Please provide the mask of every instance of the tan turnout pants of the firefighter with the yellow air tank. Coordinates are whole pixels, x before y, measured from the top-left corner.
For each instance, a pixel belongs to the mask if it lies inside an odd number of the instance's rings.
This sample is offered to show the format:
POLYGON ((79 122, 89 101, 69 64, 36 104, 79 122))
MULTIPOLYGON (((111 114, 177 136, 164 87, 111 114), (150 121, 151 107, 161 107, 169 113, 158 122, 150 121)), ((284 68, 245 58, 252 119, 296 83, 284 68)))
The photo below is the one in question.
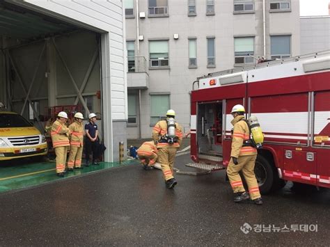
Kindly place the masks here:
POLYGON ((230 162, 227 167, 227 175, 229 178, 230 185, 233 188, 233 192, 244 192, 244 186, 242 183, 242 178, 239 175, 239 171, 242 170, 246 184, 249 187, 249 194, 252 200, 260 198, 260 191, 258 182, 256 180, 256 175, 254 174, 254 166, 256 164, 257 155, 247 155, 238 157, 238 164, 235 165, 233 160, 230 159, 230 162))

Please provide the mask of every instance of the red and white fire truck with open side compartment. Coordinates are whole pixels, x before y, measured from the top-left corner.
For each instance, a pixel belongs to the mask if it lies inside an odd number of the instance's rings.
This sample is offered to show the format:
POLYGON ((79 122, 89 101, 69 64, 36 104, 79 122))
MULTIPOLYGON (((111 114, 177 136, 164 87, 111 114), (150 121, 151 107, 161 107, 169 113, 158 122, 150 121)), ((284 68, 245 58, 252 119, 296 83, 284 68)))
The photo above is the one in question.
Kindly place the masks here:
POLYGON ((265 135, 255 173, 261 193, 285 181, 330 188, 330 50, 198 77, 191 91, 191 159, 228 166, 235 104, 265 135))

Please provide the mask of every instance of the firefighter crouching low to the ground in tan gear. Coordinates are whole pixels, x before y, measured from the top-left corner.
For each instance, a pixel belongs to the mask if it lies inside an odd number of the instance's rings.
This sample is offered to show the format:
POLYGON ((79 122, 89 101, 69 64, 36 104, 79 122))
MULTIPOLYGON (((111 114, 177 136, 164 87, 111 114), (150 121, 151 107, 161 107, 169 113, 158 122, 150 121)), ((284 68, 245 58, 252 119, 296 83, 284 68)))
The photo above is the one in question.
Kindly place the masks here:
POLYGON ((142 143, 141 147, 137 150, 137 154, 143 165, 144 170, 150 170, 157 161, 158 150, 153 141, 146 141, 142 143))

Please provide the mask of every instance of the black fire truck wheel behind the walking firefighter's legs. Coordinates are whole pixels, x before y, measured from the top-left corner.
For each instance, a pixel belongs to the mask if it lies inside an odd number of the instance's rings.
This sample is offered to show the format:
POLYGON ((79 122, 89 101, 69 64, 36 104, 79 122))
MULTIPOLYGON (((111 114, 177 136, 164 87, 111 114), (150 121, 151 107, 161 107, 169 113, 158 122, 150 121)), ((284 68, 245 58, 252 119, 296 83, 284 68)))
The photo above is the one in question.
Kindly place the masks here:
POLYGON ((272 191, 273 184, 276 183, 276 173, 274 173, 274 166, 272 166, 265 157, 258 155, 254 173, 259 184, 260 193, 267 194, 272 191))

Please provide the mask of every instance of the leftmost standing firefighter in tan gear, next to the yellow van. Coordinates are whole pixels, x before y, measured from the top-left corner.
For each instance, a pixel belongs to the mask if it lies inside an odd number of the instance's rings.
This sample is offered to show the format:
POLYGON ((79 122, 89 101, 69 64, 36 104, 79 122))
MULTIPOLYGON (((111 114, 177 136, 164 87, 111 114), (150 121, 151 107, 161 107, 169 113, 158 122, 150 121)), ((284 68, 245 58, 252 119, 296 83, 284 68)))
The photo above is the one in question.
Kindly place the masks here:
POLYGON ((52 125, 52 143, 56 154, 56 174, 63 177, 65 173, 65 163, 67 158, 70 136, 70 129, 65 126, 68 120, 68 114, 60 111, 56 121, 52 125))

